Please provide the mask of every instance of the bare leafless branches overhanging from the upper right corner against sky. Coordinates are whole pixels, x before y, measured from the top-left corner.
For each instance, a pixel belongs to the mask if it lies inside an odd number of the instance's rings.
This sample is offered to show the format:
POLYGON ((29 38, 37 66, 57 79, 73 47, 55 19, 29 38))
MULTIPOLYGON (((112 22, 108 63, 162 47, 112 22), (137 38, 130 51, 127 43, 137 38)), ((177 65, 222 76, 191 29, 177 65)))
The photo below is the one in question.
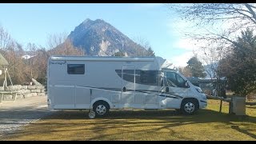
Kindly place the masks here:
POLYGON ((215 44, 239 45, 235 36, 241 30, 256 26, 256 4, 250 3, 193 3, 169 4, 182 20, 192 23, 194 32, 186 36, 215 44))

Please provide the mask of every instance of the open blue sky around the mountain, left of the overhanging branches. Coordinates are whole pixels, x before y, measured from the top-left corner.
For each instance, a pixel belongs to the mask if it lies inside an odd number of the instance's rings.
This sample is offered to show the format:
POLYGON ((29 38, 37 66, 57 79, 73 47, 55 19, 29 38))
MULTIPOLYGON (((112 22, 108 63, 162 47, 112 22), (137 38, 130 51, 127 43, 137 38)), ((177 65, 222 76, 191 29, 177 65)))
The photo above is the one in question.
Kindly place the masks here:
POLYGON ((0 4, 1 26, 22 46, 31 42, 46 47, 50 34, 70 34, 86 18, 103 19, 131 39, 144 39, 175 66, 186 66, 193 55, 193 44, 182 38, 186 24, 164 4, 0 4))

